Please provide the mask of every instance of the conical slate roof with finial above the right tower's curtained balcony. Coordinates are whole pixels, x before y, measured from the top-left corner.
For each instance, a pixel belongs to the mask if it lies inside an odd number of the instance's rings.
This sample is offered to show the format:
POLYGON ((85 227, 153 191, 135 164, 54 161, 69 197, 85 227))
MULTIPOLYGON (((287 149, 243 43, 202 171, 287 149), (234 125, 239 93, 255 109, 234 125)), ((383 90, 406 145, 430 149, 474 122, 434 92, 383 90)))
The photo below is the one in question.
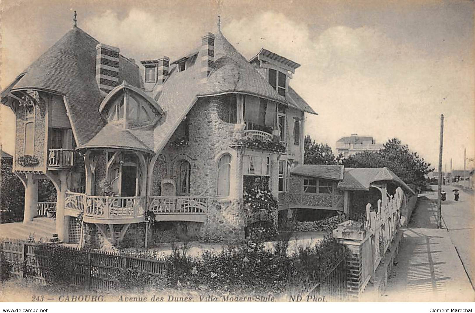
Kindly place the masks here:
POLYGON ((242 92, 287 104, 220 31, 214 40, 214 66, 199 95, 242 92))

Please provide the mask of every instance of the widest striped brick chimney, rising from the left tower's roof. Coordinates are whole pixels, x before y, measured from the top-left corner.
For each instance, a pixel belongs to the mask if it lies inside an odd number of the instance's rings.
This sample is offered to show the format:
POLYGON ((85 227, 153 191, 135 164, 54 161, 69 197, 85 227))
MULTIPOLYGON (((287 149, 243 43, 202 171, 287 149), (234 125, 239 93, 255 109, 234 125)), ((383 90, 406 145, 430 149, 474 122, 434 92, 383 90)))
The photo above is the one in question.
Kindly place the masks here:
POLYGON ((119 85, 120 49, 104 44, 95 46, 95 80, 99 89, 108 94, 119 85))

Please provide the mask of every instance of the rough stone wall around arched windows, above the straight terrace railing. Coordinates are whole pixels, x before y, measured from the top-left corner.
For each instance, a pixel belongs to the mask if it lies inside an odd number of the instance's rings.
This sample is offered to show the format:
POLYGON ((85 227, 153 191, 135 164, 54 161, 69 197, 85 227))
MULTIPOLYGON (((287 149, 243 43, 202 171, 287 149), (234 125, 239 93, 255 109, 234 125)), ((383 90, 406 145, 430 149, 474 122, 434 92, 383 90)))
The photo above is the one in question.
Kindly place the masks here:
POLYGON ((163 157, 155 161, 153 195, 160 195, 159 186, 163 178, 174 180, 178 189, 181 160, 186 160, 191 165, 190 194, 195 196, 203 193, 210 197, 216 195, 217 161, 221 154, 231 154, 235 165, 231 165, 231 175, 236 172, 240 160, 237 160, 237 153, 230 148, 230 144, 237 132, 235 124, 223 122, 218 117, 218 110, 222 110, 222 106, 223 98, 219 96, 201 98, 193 106, 186 118, 189 127, 188 144, 173 144, 181 137, 180 132, 175 132, 161 151, 163 157))

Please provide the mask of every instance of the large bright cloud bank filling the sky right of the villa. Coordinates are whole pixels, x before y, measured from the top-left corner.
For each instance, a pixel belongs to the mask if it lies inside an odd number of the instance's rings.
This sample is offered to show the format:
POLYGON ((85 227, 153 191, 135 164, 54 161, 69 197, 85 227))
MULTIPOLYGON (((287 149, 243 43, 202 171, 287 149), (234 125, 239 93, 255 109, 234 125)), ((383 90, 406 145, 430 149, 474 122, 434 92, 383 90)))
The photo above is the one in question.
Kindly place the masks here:
POLYGON ((231 20, 223 33, 246 57, 265 47, 302 64, 291 85, 319 113, 308 117, 305 130, 318 142, 334 147, 350 133, 381 143, 399 137, 435 164, 439 114, 446 113, 447 156, 464 145, 474 153, 474 66, 459 56, 429 57, 369 26, 314 34, 274 12, 231 20))

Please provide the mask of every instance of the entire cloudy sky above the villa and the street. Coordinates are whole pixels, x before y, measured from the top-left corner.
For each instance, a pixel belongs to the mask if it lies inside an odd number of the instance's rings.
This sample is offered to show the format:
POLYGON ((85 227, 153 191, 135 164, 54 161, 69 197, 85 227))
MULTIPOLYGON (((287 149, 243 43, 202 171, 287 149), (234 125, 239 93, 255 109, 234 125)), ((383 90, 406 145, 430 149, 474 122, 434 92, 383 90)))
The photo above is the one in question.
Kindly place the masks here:
MULTIPOLYGON (((305 133, 333 149, 352 133, 397 137, 437 168, 475 157, 474 1, 2 0, 3 89, 73 25, 135 60, 171 59, 217 31, 245 57, 261 47, 301 64, 290 85, 318 115, 305 133)), ((138 61, 137 61, 138 62, 138 61)), ((0 105, 12 153, 13 114, 0 105)), ((335 152, 335 150, 333 150, 335 152)), ((474 166, 468 161, 467 166, 474 166)), ((444 170, 444 167, 443 167, 444 170)))

